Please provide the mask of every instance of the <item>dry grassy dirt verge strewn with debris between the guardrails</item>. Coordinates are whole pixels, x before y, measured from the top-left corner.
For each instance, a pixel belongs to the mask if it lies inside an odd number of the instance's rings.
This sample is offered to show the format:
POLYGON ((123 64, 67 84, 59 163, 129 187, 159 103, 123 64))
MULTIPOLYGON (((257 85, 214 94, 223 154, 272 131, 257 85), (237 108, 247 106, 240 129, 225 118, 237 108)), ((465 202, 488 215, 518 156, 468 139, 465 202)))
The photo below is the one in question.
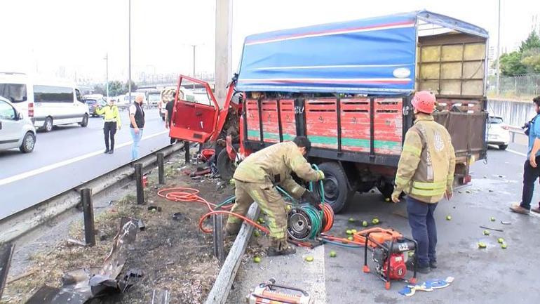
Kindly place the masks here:
MULTIPOLYGON (((190 178, 186 173, 192 171, 196 171, 196 165, 185 166, 183 152, 176 154, 166 164, 164 187, 194 187, 201 191, 201 197, 214 203, 234 194, 234 188, 219 178, 190 178)), ((157 170, 149 174, 148 180, 147 204, 137 205, 134 195, 112 201, 109 208, 95 215, 97 244, 93 247, 70 244, 63 239, 34 253, 22 275, 8 277, 0 303, 25 303, 43 284, 60 286, 66 271, 100 267, 111 250, 123 216, 142 219, 146 225, 137 232, 137 240, 123 267, 124 271, 142 270, 144 275, 123 295, 102 298, 97 303, 150 303, 154 289, 170 291, 170 303, 203 303, 220 270, 212 253, 212 235, 198 229, 198 220, 208 209, 203 204, 158 197, 162 187, 157 185, 157 170), (161 211, 149 211, 149 206, 161 207, 161 211), (180 220, 173 219, 174 213, 181 213, 180 220)), ((69 238, 83 241, 83 234, 81 220, 70 225, 69 238)), ((230 241, 226 251, 229 246, 230 241)))

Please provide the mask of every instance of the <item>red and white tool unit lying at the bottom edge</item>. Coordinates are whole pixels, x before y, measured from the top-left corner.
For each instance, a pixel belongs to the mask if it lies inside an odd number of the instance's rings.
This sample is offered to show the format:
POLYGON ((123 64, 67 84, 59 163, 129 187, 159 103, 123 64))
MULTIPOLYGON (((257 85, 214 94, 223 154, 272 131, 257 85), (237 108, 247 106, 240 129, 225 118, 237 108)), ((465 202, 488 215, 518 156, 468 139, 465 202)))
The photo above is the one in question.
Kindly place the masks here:
POLYGON ((276 284, 272 278, 261 283, 247 296, 250 304, 311 304, 311 296, 303 289, 276 284))

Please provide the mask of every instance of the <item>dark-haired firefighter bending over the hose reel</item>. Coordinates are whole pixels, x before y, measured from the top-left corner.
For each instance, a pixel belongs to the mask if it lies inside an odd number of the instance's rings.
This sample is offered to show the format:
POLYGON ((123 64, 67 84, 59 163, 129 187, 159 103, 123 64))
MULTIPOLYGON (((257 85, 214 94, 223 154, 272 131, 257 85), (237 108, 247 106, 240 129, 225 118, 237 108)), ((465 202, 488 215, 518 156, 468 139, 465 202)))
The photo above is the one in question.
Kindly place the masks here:
MULTIPOLYGON (((238 165, 234 173, 236 202, 231 211, 245 216, 255 201, 268 215, 271 246, 266 253, 269 256, 296 253, 296 249, 287 242, 286 205, 275 186, 285 188, 295 199, 318 206, 315 195, 298 185, 290 176, 294 172, 304 180, 324 178, 323 171, 313 170, 304 158, 310 148, 309 139, 298 136, 292 141, 277 143, 251 154, 238 165)), ((225 227, 227 234, 238 234, 241 224, 240 218, 229 216, 225 227)))

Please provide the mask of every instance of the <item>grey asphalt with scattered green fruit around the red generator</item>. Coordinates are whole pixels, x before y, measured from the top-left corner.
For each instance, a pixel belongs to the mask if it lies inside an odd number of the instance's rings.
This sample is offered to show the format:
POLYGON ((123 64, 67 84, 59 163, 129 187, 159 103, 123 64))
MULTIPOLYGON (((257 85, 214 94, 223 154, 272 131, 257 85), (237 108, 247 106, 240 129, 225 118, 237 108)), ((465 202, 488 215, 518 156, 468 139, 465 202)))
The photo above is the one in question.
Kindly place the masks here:
MULTIPOLYGON (((417 291, 406 298, 398 293, 405 283, 393 282, 386 291, 381 279, 363 273, 363 249, 326 244, 315 250, 297 249, 295 256, 264 257, 259 264, 246 260, 227 303, 241 303, 250 289, 270 277, 306 289, 316 303, 538 303, 540 217, 508 211, 508 206, 520 201, 525 161, 521 154, 526 153, 526 147, 511 145, 508 149, 511 152, 490 149, 487 164, 478 161, 473 165, 472 183, 456 190, 451 201, 441 201, 436 209, 438 268, 429 275, 420 274, 419 282, 454 277, 447 288, 417 291), (448 215, 452 220, 446 220, 448 215), (502 225, 501 220, 511 225, 502 225), (504 232, 491 231, 485 236, 480 225, 504 232), (499 237, 504 238, 508 249, 501 249, 499 237), (478 242, 487 244, 487 249, 478 249, 478 242), (337 257, 330 258, 330 251, 336 251, 337 257), (304 261, 306 256, 315 260, 308 263, 304 261)), ((536 191, 533 204, 539 199, 536 191)), ((384 203, 380 194, 368 193, 356 195, 351 203, 337 215, 330 234, 346 237, 347 229, 362 230, 361 220, 377 217, 382 227, 393 227, 410 236, 405 202, 384 203), (356 222, 349 223, 349 218, 356 222)), ((372 263, 370 267, 373 271, 372 263)))

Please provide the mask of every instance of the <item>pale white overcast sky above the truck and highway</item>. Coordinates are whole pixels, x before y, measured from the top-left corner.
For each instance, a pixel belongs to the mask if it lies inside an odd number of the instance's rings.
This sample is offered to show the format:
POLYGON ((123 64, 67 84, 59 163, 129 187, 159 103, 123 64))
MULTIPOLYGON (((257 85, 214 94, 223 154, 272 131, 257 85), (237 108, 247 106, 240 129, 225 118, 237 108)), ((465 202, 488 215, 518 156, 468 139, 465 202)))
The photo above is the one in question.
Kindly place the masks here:
MULTIPOLYGON (((214 70, 216 0, 131 0, 133 75, 214 70)), ((220 0, 217 0, 220 1, 220 0)), ((232 58, 249 34, 427 9, 490 32, 497 46, 498 0, 231 0, 232 58)), ((0 71, 128 78, 128 0, 0 0, 0 71)), ((511 51, 540 20, 538 0, 501 0, 501 49, 511 51)))

